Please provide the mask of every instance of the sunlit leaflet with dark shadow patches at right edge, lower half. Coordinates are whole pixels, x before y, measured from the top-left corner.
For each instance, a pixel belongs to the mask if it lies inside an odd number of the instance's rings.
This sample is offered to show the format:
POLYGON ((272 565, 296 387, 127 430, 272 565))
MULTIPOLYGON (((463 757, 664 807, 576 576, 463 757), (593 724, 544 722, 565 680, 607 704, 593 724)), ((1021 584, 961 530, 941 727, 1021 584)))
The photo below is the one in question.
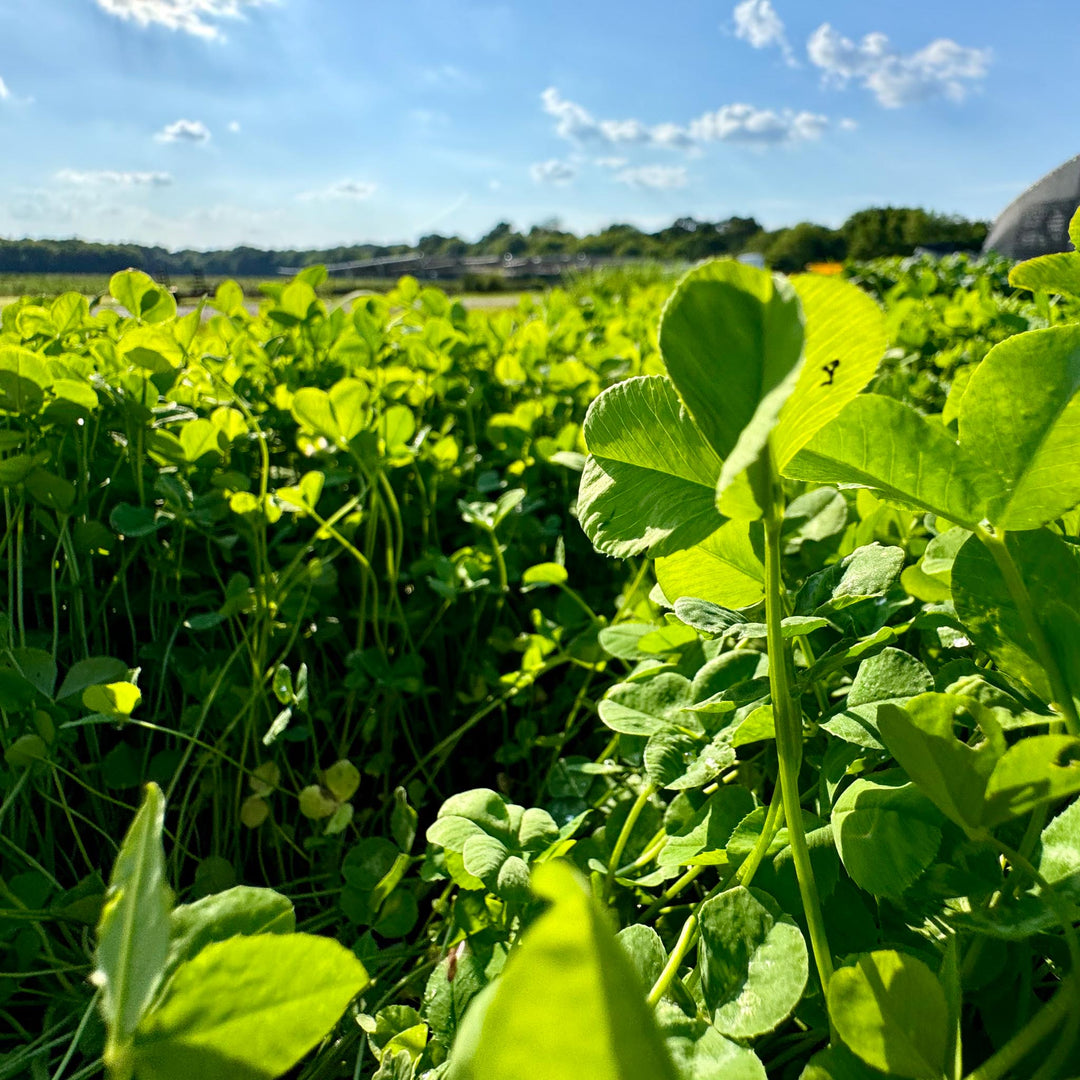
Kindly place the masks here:
POLYGON ((1080 739, 1029 735, 1002 755, 986 784, 983 822, 993 827, 1080 792, 1080 739))

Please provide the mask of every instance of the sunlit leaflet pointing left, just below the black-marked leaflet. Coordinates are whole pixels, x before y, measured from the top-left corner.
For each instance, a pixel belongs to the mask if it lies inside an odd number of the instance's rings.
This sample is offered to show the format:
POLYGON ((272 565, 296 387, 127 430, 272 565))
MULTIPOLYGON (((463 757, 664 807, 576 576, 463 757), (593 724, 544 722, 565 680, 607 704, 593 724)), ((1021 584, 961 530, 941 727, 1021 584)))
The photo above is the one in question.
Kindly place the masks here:
POLYGON ((869 487, 972 527, 999 490, 994 474, 940 423, 877 394, 853 399, 782 472, 819 484, 869 487))

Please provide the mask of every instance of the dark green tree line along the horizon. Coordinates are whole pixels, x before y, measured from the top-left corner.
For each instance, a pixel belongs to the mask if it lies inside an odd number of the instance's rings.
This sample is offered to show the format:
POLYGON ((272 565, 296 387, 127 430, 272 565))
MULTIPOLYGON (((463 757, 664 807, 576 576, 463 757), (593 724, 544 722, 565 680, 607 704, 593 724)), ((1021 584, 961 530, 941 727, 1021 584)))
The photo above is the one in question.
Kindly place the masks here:
POLYGON ((643 258, 658 261, 697 261, 711 256, 757 252, 778 270, 794 271, 810 262, 910 255, 916 247, 977 251, 988 224, 936 214, 921 208, 875 207, 852 214, 838 229, 811 221, 767 230, 753 217, 703 221, 680 217, 665 229, 644 232, 633 225, 610 225, 579 237, 557 221, 536 225, 527 232, 508 221, 470 242, 432 233, 418 244, 354 244, 319 251, 170 252, 140 244, 96 244, 82 240, 0 239, 0 273, 113 273, 137 266, 156 274, 214 276, 272 276, 280 267, 350 262, 388 255, 422 252, 427 256, 465 255, 589 255, 643 258))

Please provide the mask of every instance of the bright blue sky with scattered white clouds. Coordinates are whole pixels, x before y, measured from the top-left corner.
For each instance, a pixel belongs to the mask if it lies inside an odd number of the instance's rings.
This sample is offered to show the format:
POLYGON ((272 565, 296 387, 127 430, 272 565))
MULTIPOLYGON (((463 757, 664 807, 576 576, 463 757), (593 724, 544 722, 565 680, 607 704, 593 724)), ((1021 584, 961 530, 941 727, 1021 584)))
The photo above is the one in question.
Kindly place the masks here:
POLYGON ((994 217, 1080 152, 1078 39, 1075 0, 0 0, 0 235, 994 217))

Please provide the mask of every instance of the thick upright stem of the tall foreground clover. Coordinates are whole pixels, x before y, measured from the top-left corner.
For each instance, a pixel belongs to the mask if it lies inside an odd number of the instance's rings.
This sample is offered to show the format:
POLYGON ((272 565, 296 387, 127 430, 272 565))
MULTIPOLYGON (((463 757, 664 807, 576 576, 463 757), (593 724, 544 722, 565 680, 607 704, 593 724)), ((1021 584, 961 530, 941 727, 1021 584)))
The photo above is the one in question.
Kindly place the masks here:
POLYGON ((783 619, 783 578, 780 565, 780 528, 783 514, 775 499, 765 516, 765 622, 769 644, 769 688, 777 729, 777 755, 780 759, 780 789, 787 837, 799 882, 802 912, 810 931, 810 945, 822 987, 827 989, 833 976, 833 955, 825 935, 821 901, 810 864, 799 802, 799 767, 802 764, 802 719, 792 694, 792 675, 781 621, 783 619))

